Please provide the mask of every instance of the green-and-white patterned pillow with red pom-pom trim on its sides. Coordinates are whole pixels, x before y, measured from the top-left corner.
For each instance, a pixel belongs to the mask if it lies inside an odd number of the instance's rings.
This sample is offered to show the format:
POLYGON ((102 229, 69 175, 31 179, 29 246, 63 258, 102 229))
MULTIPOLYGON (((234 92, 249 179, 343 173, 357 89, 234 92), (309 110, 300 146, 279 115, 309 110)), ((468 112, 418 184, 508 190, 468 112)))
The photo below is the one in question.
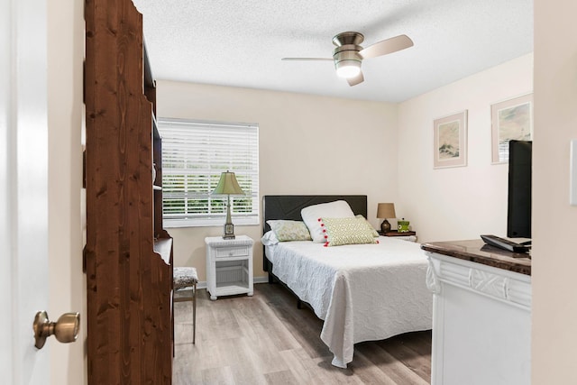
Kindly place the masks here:
POLYGON ((340 246, 343 244, 379 243, 363 217, 353 218, 322 218, 326 230, 325 246, 340 246))

